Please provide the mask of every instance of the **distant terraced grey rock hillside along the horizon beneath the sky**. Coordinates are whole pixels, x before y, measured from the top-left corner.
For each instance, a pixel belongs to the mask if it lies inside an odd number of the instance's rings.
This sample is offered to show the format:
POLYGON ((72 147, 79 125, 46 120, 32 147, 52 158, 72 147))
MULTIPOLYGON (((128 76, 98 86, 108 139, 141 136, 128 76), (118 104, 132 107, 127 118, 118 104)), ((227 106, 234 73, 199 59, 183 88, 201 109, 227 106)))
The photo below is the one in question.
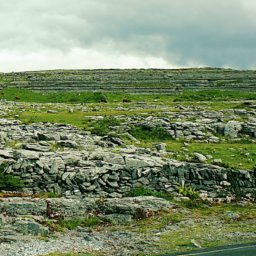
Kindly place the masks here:
POLYGON ((56 70, 0 73, 0 87, 33 90, 173 93, 182 89, 255 90, 256 71, 231 69, 56 70))

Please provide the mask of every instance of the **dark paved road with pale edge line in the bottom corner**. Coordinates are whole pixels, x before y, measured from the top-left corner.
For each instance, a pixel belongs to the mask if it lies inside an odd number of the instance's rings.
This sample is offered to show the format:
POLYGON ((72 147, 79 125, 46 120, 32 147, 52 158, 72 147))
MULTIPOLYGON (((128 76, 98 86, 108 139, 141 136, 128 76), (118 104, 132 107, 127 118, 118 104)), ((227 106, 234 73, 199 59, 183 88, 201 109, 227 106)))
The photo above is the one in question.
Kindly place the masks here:
POLYGON ((256 256, 256 243, 232 245, 198 250, 186 253, 165 254, 163 256, 256 256))

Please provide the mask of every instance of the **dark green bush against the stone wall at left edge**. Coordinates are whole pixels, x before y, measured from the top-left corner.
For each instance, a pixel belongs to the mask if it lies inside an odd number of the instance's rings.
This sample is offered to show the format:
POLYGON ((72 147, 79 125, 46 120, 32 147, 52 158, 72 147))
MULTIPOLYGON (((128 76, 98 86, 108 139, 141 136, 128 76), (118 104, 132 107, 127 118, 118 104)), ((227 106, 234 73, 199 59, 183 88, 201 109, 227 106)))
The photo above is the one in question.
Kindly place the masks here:
POLYGON ((24 184, 22 180, 5 173, 5 165, 0 165, 0 190, 20 191, 24 184))

